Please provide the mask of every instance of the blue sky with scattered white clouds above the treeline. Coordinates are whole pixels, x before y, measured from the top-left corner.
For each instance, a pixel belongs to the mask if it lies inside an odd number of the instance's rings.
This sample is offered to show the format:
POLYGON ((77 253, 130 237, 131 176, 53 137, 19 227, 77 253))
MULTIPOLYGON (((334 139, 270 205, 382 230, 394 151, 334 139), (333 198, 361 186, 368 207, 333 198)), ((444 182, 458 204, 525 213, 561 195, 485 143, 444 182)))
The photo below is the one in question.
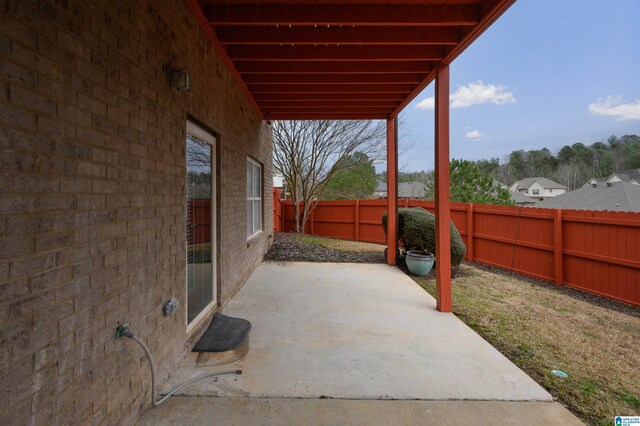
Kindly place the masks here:
MULTIPOLYGON (((640 134, 638 18, 640 0, 517 0, 450 66, 451 158, 640 134)), ((401 171, 433 169, 433 95, 402 113, 401 171)))

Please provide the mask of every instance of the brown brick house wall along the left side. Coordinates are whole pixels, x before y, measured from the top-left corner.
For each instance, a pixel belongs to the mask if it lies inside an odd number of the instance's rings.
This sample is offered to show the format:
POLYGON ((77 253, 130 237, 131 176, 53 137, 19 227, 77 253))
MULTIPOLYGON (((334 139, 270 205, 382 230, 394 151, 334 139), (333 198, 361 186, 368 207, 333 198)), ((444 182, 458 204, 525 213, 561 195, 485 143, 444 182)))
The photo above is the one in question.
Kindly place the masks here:
POLYGON ((185 122, 218 135, 218 285, 237 292, 271 242, 247 241, 247 155, 270 194, 270 131, 182 1, 0 0, 0 418, 131 424, 185 327, 185 122), (188 70, 172 90, 164 64, 188 70), (163 317, 176 296, 179 312, 163 317))

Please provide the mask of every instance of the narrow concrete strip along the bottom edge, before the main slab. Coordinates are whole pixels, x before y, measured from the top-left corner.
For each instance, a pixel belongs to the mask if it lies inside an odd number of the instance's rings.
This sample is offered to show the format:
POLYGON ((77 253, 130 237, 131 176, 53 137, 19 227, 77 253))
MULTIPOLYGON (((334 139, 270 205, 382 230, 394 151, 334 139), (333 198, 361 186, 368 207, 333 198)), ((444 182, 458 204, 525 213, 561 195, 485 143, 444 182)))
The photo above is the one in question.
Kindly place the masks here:
POLYGON ((582 425, 557 402, 175 397, 140 426, 582 425))

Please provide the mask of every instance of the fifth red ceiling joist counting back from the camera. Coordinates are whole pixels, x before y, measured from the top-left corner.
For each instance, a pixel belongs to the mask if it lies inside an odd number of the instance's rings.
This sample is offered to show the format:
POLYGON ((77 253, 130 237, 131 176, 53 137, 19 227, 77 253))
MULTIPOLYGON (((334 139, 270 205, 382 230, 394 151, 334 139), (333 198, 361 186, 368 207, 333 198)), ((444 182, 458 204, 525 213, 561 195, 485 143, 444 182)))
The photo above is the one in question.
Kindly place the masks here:
POLYGON ((418 84, 424 74, 247 74, 247 84, 418 84))

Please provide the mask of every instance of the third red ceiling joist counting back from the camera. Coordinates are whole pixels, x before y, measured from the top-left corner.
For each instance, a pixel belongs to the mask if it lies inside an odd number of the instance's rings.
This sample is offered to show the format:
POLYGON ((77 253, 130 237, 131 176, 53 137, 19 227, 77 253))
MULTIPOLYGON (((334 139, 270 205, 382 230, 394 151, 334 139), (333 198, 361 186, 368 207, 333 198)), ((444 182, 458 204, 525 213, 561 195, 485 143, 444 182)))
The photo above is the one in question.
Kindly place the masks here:
MULTIPOLYGON (((235 61, 439 61, 439 46, 228 46, 235 61)), ((397 66, 401 68, 401 66, 397 66)))

